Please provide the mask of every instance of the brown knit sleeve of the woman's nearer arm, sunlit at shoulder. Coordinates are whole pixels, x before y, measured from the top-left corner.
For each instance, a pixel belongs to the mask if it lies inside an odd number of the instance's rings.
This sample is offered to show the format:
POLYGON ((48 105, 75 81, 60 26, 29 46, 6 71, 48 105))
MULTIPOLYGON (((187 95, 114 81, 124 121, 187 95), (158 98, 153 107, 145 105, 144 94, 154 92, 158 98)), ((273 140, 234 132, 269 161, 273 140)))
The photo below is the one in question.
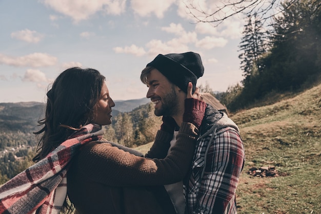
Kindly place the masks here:
POLYGON ((79 152, 75 164, 86 179, 110 186, 164 185, 182 180, 190 167, 198 130, 182 123, 177 142, 164 159, 132 155, 109 143, 92 142, 79 152))

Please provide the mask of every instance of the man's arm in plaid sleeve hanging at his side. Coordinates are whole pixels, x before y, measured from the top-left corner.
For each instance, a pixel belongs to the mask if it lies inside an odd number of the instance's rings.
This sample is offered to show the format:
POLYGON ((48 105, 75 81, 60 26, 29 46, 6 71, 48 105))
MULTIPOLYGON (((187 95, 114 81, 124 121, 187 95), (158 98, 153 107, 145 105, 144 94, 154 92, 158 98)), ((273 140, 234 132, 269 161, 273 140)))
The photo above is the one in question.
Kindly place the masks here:
POLYGON ((205 157, 196 213, 233 213, 230 210, 236 209, 235 192, 244 164, 244 146, 236 131, 223 129, 218 133, 205 157))

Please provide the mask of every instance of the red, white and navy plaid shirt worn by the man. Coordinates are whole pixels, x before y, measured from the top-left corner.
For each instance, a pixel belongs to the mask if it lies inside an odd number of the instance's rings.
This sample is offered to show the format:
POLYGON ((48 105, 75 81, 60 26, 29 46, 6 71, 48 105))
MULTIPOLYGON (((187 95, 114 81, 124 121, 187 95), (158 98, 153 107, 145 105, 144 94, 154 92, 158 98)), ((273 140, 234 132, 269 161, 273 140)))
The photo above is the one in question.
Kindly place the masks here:
POLYGON ((243 169, 244 146, 232 127, 215 131, 198 141, 185 186, 186 213, 236 213, 235 191, 243 169))

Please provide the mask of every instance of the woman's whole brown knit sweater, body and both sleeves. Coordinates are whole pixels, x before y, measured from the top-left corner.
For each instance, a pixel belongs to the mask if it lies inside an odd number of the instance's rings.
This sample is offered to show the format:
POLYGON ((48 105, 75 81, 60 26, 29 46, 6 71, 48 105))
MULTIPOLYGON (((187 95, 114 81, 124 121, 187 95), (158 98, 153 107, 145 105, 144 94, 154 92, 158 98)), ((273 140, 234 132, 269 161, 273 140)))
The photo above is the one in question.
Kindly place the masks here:
MULTIPOLYGON (((68 170, 71 202, 79 213, 172 213, 166 192, 158 187, 184 178, 197 134, 193 124, 183 122, 175 146, 164 159, 138 157, 107 141, 88 143, 68 170)), ((171 138, 169 133, 158 131, 150 156, 164 154, 171 138)))

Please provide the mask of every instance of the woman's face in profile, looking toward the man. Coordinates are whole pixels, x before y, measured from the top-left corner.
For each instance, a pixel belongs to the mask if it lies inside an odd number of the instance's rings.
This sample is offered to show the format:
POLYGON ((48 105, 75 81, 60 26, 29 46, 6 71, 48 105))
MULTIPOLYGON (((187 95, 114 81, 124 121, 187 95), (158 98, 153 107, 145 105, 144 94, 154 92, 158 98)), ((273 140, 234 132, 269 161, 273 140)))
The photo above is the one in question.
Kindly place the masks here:
POLYGON ((109 96, 106 82, 104 82, 101 95, 99 96, 98 102, 94 107, 94 119, 91 122, 98 125, 111 124, 111 108, 113 106, 115 106, 115 103, 109 96))

